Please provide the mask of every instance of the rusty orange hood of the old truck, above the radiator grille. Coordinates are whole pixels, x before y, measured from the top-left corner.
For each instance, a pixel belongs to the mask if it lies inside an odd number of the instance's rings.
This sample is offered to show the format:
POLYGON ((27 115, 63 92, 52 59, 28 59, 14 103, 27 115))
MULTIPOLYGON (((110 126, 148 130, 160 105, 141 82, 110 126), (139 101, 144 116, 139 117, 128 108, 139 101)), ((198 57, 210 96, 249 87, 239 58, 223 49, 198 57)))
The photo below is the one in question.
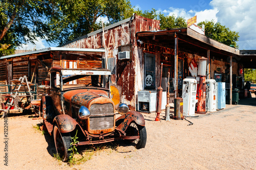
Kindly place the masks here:
POLYGON ((77 89, 70 90, 63 94, 65 101, 79 106, 90 108, 93 103, 113 103, 104 90, 96 89, 77 89))

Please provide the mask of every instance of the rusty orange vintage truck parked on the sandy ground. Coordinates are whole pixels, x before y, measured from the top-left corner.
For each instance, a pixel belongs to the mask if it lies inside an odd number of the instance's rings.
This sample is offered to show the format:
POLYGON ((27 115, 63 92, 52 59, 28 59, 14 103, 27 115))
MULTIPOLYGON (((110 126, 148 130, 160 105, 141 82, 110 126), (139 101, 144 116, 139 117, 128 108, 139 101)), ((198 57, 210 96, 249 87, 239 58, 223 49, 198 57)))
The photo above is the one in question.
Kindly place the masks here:
POLYGON ((137 149, 146 144, 145 120, 141 113, 129 111, 121 103, 116 118, 111 100, 111 71, 97 69, 51 68, 51 95, 42 96, 44 126, 54 137, 56 151, 67 161, 77 133, 77 145, 127 140, 137 149))

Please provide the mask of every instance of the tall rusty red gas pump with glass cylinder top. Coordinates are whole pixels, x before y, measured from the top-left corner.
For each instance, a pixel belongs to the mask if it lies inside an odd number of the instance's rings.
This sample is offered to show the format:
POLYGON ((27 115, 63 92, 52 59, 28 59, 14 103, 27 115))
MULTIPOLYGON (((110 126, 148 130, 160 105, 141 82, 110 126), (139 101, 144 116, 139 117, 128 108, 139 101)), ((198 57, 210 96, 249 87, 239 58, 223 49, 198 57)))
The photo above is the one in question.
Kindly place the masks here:
POLYGON ((205 99, 206 99, 206 64, 207 58, 201 57, 198 59, 198 76, 200 77, 198 89, 198 102, 196 113, 205 114, 205 99))

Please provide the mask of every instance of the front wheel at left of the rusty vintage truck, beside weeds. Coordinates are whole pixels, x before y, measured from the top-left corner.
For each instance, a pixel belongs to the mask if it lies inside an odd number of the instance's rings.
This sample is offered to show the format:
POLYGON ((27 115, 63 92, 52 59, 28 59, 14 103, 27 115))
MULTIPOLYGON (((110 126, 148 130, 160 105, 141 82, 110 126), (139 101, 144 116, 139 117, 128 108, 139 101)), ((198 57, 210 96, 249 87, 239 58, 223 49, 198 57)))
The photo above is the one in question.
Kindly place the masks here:
POLYGON ((71 148, 72 142, 70 133, 60 133, 58 126, 55 125, 53 128, 53 137, 57 154, 59 154, 62 161, 68 161, 71 154, 69 149, 71 148))

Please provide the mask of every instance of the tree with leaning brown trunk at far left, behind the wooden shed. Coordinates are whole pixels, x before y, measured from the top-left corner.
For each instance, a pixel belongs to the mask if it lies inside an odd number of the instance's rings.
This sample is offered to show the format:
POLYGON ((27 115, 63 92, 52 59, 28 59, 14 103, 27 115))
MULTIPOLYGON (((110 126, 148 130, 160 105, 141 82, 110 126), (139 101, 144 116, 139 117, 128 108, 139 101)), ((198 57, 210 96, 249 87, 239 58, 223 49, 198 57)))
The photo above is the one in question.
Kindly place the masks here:
POLYGON ((49 1, 0 1, 0 56, 12 54, 15 47, 36 37, 50 36, 45 20, 51 16, 49 1))

